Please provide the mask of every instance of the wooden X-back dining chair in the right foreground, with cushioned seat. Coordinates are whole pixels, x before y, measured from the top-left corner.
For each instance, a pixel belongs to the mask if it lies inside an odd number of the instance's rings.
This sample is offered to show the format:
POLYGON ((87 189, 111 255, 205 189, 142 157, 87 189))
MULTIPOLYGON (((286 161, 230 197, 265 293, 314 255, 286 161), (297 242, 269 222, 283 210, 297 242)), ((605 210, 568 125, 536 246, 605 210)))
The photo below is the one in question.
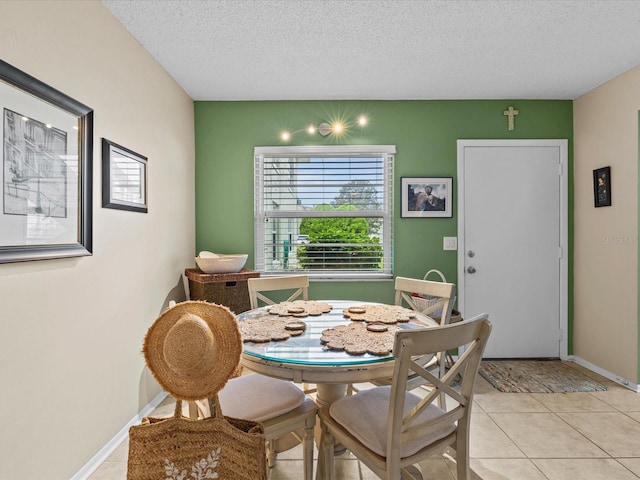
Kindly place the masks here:
POLYGON ((471 406, 490 332, 486 314, 442 327, 399 330, 391 385, 363 390, 320 409, 318 461, 323 462, 325 478, 334 478, 334 446, 338 442, 385 480, 416 478, 416 463, 451 446, 456 451, 456 478, 469 480, 471 406), (466 347, 464 353, 442 378, 414 361, 416 356, 462 346, 466 347), (410 391, 410 371, 433 386, 429 393, 410 391), (447 397, 443 406, 434 404, 440 393, 447 397))

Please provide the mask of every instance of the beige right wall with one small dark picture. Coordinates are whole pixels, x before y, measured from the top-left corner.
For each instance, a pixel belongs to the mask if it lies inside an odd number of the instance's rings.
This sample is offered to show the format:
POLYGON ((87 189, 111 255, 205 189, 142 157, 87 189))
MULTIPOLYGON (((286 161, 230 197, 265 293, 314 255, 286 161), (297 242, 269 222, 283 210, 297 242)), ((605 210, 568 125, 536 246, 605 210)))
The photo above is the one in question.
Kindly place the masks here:
POLYGON ((640 68, 574 102, 574 354, 638 380, 640 68), (612 206, 594 208, 593 170, 611 166, 612 206))

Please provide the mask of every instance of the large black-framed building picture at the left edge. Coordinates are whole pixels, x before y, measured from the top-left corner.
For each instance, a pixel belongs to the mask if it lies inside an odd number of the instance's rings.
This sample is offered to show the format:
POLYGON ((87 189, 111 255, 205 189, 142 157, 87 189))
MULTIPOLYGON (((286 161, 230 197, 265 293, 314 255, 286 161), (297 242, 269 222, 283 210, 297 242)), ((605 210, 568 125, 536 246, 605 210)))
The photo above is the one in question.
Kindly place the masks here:
POLYGON ((0 263, 91 255, 93 110, 0 60, 0 263))

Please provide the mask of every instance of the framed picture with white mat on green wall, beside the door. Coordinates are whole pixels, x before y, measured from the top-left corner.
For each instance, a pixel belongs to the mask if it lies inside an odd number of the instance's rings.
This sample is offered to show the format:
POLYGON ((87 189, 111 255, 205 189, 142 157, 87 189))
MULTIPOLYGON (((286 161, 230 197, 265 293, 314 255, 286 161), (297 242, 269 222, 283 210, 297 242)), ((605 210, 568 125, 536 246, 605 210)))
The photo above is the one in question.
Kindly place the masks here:
POLYGON ((451 177, 402 177, 402 217, 451 217, 451 177))

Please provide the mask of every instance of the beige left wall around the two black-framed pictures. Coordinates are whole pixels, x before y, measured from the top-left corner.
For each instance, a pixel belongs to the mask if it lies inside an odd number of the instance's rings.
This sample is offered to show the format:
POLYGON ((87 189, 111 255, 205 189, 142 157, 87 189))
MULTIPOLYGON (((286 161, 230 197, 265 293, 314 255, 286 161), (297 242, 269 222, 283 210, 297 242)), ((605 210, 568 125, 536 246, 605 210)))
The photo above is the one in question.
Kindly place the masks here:
POLYGON ((0 479, 68 479, 153 399, 144 334, 193 264, 193 102, 97 1, 1 1, 0 58, 94 109, 90 257, 0 265, 0 479), (101 208, 102 137, 149 213, 101 208))

